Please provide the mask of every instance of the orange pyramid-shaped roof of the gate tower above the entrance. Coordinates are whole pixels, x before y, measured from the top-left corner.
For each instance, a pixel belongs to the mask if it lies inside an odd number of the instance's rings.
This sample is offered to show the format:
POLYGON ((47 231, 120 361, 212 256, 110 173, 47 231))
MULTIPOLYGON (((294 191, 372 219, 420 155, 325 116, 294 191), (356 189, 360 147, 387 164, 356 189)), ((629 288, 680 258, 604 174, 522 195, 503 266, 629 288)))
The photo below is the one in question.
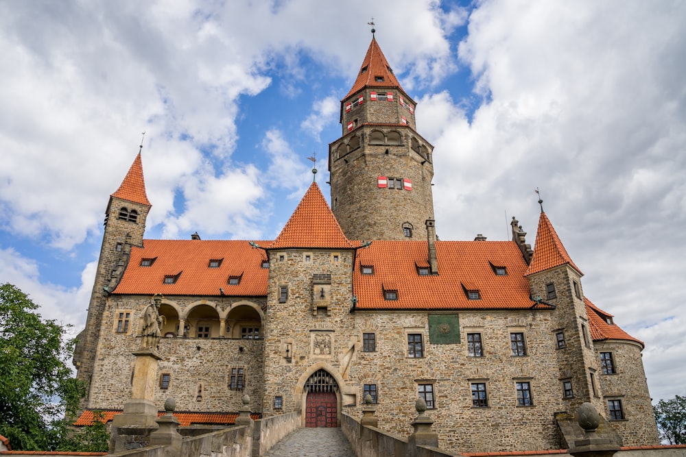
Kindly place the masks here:
POLYGON ((298 208, 267 249, 288 247, 353 249, 316 182, 309 186, 298 208))

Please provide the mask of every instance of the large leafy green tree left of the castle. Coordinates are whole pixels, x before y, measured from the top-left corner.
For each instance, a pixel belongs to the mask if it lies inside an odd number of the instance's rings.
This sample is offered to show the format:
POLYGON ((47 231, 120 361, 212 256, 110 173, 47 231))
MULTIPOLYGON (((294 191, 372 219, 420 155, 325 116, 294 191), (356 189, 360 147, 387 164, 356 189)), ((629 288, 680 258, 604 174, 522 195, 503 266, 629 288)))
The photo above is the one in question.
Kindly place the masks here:
POLYGON ((0 285, 0 434, 16 450, 78 447, 84 432, 70 419, 86 391, 67 363, 75 341, 37 309, 16 286, 0 285))

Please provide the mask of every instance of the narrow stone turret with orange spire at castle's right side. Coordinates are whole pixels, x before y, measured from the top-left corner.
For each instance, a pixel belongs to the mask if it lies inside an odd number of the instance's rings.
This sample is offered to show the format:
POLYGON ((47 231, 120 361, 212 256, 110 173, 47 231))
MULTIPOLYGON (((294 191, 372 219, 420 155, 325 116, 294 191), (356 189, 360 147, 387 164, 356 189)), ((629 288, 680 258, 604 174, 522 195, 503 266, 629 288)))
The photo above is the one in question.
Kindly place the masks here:
MULTIPOLYGON (((593 349, 591 326, 581 289, 583 273, 567 254, 567 249, 541 207, 539 228, 531 263, 526 272, 532 299, 556 306, 554 335, 558 351, 560 380, 571 383, 568 402, 576 410, 590 402, 604 410, 598 380, 598 360, 593 349)), ((565 389, 569 384, 565 385, 565 389)))

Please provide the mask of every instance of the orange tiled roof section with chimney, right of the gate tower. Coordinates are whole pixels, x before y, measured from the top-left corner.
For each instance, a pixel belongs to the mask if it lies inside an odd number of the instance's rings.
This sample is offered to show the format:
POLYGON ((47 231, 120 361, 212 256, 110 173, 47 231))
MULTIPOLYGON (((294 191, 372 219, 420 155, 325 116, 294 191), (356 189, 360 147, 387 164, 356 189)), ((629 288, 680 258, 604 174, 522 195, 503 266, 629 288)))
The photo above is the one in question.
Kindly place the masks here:
POLYGON ((436 253, 438 275, 420 276, 416 266, 427 264, 425 241, 374 241, 359 249, 353 273, 356 308, 527 309, 534 305, 524 277, 526 263, 515 243, 436 241, 436 253), (374 274, 363 275, 360 265, 373 267, 374 274), (507 275, 497 276, 492 265, 506 267, 507 275), (478 290, 481 299, 467 299, 463 286, 478 290), (384 287, 397 288, 398 299, 384 299, 384 287))

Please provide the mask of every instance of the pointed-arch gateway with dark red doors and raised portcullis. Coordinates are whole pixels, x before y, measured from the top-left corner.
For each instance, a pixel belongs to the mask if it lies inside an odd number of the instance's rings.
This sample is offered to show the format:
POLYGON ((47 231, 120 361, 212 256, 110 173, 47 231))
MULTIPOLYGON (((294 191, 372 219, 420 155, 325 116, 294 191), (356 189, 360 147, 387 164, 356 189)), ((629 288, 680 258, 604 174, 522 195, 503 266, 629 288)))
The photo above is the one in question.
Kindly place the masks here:
POLYGON ((320 369, 305 382, 305 427, 338 427, 338 383, 320 369))

